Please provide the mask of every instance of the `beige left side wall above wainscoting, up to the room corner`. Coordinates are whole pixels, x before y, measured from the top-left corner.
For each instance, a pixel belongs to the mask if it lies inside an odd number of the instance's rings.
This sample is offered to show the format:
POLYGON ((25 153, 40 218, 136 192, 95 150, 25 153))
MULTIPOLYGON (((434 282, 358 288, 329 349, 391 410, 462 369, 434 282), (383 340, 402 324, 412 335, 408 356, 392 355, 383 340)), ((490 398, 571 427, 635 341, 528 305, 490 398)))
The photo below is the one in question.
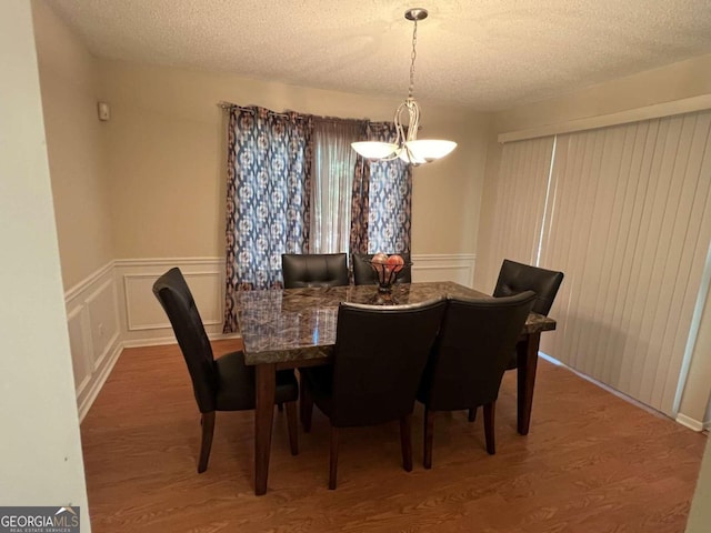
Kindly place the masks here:
POLYGON ((113 259, 97 60, 44 2, 32 3, 64 289, 113 259))

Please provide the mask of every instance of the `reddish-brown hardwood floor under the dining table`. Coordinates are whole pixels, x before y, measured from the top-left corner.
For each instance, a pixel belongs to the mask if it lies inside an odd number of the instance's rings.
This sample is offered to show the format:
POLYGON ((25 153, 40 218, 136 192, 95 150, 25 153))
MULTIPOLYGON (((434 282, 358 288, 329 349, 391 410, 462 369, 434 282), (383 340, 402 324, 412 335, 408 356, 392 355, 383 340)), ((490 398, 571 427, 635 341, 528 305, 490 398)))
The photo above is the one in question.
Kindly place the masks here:
MULTIPOLYGON (((239 342, 239 341, 237 341, 239 342)), ((216 343, 216 355, 239 348, 216 343)), ((289 453, 274 414, 269 492, 253 494, 253 412, 218 413, 197 473, 199 413, 177 346, 129 349, 81 425, 92 531, 573 532, 684 531, 705 436, 540 361, 531 433, 515 432, 515 374, 497 404, 497 454, 483 416, 438 413, 433 467, 400 465, 399 425, 341 431, 339 483, 327 489, 328 421, 289 453)))

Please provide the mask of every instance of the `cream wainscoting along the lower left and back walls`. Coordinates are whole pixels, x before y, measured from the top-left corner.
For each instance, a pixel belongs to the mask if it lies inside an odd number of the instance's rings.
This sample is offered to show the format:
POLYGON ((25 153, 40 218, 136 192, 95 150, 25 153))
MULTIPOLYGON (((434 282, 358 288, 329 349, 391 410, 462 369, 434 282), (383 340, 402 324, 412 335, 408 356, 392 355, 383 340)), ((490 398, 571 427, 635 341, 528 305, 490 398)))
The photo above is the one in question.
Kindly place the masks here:
MULTIPOLYGON (((473 254, 413 255, 413 281, 454 281, 471 286, 473 254)), ((111 261, 64 293, 80 420, 123 348, 176 342, 153 282, 179 266, 210 339, 222 335, 224 259, 174 258, 111 261)), ((227 335, 234 336, 234 335, 227 335)))

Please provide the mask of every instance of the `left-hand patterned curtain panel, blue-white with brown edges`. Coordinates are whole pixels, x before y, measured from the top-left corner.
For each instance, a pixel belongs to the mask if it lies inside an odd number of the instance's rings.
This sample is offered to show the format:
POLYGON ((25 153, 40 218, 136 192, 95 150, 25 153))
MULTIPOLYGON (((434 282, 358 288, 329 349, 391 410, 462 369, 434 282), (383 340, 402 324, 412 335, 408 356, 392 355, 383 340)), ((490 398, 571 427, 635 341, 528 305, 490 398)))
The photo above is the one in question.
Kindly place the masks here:
POLYGON ((311 117, 230 109, 224 332, 232 294, 281 286, 281 254, 308 252, 311 117))

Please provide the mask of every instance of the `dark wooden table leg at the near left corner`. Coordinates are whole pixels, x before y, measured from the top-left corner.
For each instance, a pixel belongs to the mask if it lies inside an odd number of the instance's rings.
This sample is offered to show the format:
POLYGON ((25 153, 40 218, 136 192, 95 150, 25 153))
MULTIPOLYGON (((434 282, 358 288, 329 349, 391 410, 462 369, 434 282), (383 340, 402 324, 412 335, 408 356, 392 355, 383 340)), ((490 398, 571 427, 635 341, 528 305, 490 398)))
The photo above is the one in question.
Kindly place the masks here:
POLYGON ((269 455, 271 452, 271 426, 274 418, 274 391, 277 389, 277 366, 258 364, 257 408, 254 410, 254 494, 267 493, 269 455))

